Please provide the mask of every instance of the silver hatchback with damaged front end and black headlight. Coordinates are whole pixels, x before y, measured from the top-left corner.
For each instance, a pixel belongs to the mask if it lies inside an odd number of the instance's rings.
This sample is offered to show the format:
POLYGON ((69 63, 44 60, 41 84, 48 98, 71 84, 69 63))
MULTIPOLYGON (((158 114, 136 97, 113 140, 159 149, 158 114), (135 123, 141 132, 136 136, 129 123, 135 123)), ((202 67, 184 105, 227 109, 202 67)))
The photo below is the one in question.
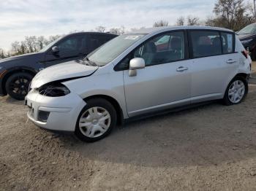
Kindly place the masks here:
POLYGON ((132 117, 216 99, 239 104, 251 62, 225 28, 146 28, 40 71, 25 103, 39 127, 97 141, 132 117))

